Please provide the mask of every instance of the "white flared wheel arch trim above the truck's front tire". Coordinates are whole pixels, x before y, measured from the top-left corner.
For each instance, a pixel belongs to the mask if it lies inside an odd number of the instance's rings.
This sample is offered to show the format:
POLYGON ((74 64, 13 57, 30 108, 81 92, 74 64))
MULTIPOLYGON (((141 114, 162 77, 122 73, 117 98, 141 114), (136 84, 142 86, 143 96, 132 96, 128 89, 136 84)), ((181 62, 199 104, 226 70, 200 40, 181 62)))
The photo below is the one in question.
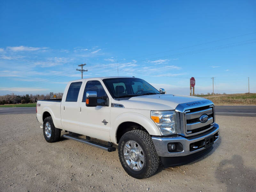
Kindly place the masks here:
POLYGON ((126 113, 120 114, 113 120, 113 122, 111 122, 111 129, 110 129, 111 142, 117 144, 116 132, 119 125, 124 122, 134 122, 134 123, 140 124, 142 127, 144 127, 147 130, 147 132, 150 135, 161 135, 156 124, 151 119, 148 119, 146 116, 143 116, 140 113, 126 112, 126 113))

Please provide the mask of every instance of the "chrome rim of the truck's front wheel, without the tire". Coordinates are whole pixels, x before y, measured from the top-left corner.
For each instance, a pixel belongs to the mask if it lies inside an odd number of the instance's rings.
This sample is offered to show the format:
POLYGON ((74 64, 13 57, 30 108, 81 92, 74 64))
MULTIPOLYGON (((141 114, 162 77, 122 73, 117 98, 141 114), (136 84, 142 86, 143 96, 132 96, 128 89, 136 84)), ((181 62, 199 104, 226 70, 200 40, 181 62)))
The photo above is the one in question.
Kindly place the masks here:
POLYGON ((124 159, 126 164, 134 171, 140 171, 145 164, 145 156, 140 145, 129 140, 124 145, 124 159))

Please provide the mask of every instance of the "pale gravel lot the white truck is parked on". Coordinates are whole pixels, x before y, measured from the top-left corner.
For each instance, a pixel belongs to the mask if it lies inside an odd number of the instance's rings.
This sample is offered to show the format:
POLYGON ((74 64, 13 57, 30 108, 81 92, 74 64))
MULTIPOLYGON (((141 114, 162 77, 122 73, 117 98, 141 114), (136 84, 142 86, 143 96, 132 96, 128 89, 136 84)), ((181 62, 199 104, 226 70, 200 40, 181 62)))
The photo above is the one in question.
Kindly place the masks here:
POLYGON ((47 143, 35 114, 0 115, 0 191, 256 191, 256 118, 216 118, 221 138, 210 153, 137 180, 117 151, 47 143))

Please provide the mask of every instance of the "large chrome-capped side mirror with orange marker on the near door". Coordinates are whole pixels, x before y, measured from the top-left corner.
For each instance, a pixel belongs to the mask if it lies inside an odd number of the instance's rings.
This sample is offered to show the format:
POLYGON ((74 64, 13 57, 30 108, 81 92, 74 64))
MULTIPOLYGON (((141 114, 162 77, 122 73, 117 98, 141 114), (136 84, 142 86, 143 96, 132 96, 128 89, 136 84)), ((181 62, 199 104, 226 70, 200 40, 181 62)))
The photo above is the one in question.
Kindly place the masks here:
POLYGON ((87 107, 108 106, 108 97, 107 96, 97 97, 96 91, 87 91, 85 103, 87 107), (106 100, 106 102, 98 103, 98 99, 106 100))

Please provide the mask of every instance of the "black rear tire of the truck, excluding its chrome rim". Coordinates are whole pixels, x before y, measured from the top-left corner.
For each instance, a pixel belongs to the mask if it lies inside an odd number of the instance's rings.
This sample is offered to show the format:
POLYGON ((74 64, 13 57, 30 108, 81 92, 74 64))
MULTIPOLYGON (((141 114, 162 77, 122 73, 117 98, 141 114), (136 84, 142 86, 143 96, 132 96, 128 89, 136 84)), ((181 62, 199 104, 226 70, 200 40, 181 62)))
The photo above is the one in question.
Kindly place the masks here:
POLYGON ((59 141, 60 140, 60 133, 61 133, 61 130, 56 128, 53 124, 53 121, 52 121, 52 117, 49 116, 49 117, 46 117, 44 119, 44 124, 43 124, 43 133, 44 133, 44 139, 49 142, 49 143, 53 143, 53 142, 56 142, 56 141, 59 141), (45 133, 45 127, 46 127, 46 123, 49 123, 50 126, 51 126, 51 136, 50 138, 48 138, 46 136, 46 133, 45 133))

